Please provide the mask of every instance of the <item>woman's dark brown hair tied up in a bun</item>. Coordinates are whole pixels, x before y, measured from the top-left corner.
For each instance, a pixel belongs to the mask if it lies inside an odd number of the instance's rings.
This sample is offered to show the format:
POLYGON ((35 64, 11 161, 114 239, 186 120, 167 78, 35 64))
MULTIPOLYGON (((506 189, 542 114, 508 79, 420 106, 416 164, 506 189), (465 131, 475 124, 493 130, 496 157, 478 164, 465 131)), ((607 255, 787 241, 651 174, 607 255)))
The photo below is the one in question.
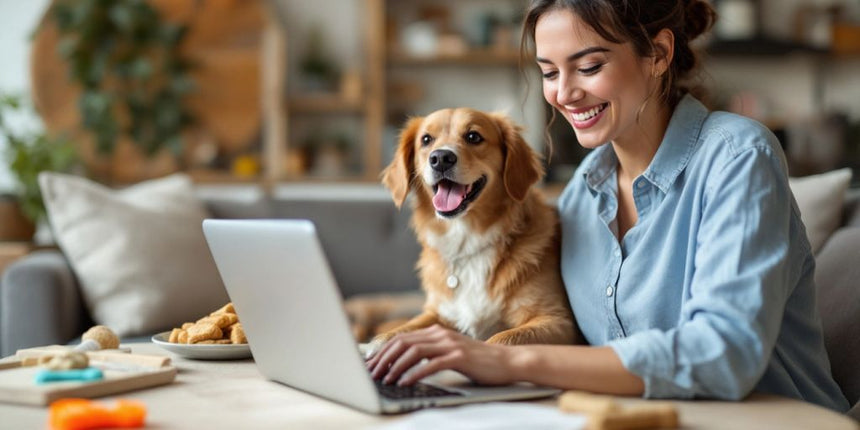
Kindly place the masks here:
POLYGON ((687 80, 698 65, 690 42, 708 31, 716 12, 706 0, 533 0, 526 10, 520 46, 522 64, 534 47, 538 19, 553 10, 569 10, 613 43, 629 42, 641 57, 661 55, 651 42, 666 28, 675 35, 675 52, 662 75, 661 98, 675 106, 690 91, 687 80))

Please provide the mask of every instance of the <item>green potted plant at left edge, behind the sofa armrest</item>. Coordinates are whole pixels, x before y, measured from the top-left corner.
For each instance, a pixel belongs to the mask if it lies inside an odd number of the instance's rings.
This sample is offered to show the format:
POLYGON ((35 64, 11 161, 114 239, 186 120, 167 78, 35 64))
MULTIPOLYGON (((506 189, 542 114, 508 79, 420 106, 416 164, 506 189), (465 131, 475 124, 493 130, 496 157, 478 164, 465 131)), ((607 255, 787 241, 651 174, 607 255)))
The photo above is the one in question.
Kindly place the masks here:
POLYGON ((74 147, 61 137, 13 130, 5 118, 22 109, 19 98, 0 95, 0 136, 6 142, 2 155, 16 182, 14 191, 0 199, 0 239, 3 240, 32 238, 35 226, 45 219, 39 173, 67 172, 77 160, 74 147))

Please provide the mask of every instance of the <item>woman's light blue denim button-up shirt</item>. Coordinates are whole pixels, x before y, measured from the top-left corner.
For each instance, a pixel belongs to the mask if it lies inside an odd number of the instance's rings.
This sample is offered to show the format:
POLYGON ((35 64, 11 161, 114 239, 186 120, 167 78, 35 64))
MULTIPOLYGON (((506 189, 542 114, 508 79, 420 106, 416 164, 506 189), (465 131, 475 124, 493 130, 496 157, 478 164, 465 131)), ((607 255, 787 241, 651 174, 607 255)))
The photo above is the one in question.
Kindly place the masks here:
POLYGON ((617 159, 592 151, 559 197, 562 274, 576 321, 645 382, 645 397, 760 391, 838 411, 815 307, 815 260, 764 126, 684 97, 633 181, 619 243, 617 159))

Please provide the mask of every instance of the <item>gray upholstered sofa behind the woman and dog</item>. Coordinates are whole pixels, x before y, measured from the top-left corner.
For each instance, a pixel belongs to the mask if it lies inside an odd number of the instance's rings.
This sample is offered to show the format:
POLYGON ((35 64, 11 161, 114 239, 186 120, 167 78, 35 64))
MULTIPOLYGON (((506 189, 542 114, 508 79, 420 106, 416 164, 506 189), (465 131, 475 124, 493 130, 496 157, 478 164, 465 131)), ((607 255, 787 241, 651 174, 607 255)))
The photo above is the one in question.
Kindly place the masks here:
MULTIPOLYGON (((418 244, 409 211, 397 211, 382 189, 299 193, 253 200, 204 198, 216 218, 309 218, 346 297, 418 288, 418 244)), ((860 190, 846 199, 842 226, 817 256, 818 305, 833 375, 860 420, 860 190)), ((0 355, 66 343, 92 321, 77 280, 59 251, 33 253, 11 265, 0 282, 0 355)))

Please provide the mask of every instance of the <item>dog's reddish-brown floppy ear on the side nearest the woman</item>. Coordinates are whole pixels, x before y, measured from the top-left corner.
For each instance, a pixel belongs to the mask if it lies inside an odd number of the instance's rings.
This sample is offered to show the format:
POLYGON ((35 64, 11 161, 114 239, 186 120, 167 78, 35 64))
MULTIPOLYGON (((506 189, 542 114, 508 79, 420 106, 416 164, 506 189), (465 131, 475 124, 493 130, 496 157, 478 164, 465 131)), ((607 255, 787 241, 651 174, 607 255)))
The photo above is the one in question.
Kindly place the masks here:
POLYGON ((503 114, 494 114, 493 118, 501 130, 505 150, 502 173, 505 191, 514 200, 521 202, 526 198, 529 187, 543 175, 543 166, 537 153, 523 139, 521 127, 503 114))

